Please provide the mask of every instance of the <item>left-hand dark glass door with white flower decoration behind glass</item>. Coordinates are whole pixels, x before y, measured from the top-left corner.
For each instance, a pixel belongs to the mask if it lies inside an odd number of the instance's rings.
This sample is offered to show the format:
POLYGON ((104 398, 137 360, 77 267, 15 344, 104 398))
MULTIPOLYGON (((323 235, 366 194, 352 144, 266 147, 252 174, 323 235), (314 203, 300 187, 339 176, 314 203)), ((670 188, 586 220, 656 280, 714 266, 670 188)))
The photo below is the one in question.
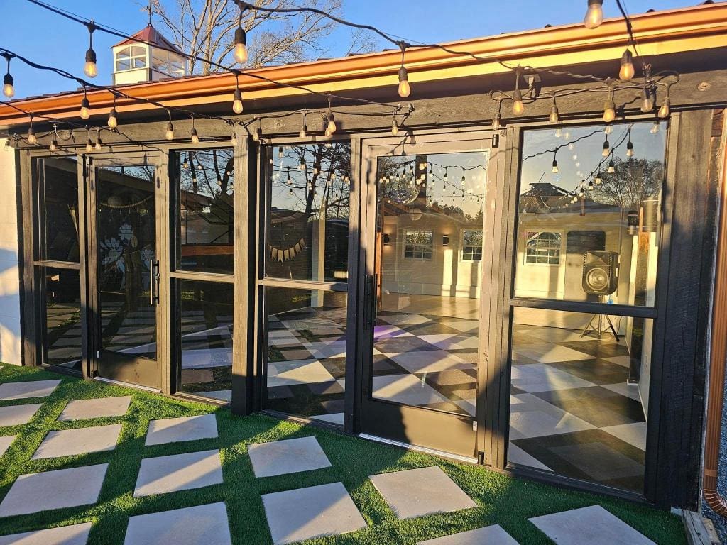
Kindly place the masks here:
POLYGON ((89 169, 89 301, 97 376, 160 389, 155 163, 101 159, 89 169))

